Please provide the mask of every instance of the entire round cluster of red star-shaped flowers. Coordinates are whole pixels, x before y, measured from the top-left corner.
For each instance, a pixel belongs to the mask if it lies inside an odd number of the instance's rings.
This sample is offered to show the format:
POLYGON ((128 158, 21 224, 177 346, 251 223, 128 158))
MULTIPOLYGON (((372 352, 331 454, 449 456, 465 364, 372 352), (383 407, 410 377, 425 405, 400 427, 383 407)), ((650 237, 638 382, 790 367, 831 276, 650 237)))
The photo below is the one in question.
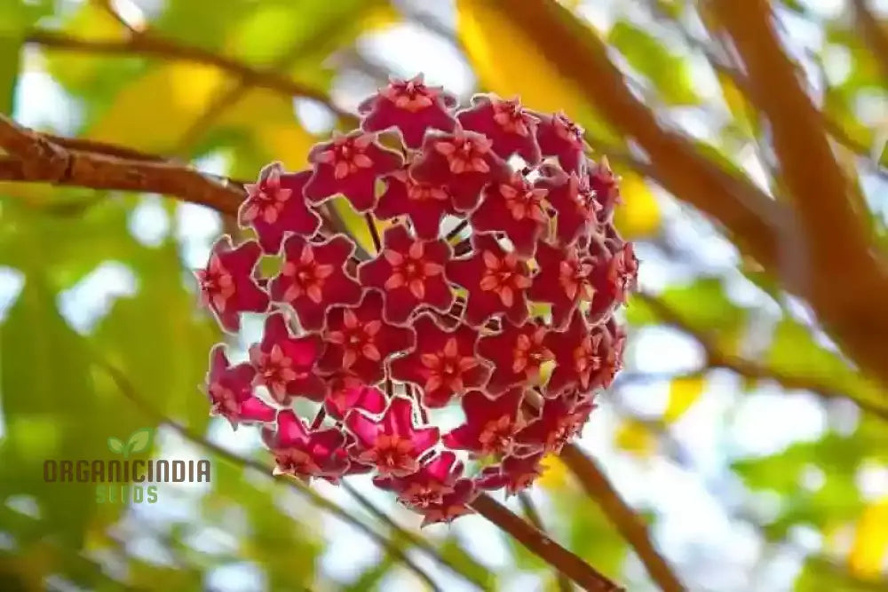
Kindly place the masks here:
POLYGON ((278 473, 371 473, 424 524, 449 522, 480 491, 530 485, 582 430, 621 366, 614 310, 638 260, 612 223, 617 179, 564 114, 494 95, 458 110, 421 76, 359 111, 306 170, 262 170, 240 210, 258 239, 223 236, 196 272, 227 332, 266 313, 248 361, 211 351, 211 413, 258 424, 278 473), (375 252, 337 229, 337 197, 375 252), (463 419, 446 433, 429 419, 444 407, 463 419))

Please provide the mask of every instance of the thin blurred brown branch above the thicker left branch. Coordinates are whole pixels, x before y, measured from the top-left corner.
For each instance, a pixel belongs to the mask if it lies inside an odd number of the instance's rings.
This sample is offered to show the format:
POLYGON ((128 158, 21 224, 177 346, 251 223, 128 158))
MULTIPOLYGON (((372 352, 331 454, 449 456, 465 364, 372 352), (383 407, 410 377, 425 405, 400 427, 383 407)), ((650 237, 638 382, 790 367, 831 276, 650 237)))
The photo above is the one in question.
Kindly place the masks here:
POLYGON ((323 92, 297 83, 288 76, 276 72, 274 69, 252 67, 237 59, 228 58, 200 47, 170 41, 154 34, 139 33, 139 35, 131 36, 129 39, 124 40, 83 39, 55 31, 36 30, 30 33, 25 38, 25 41, 26 43, 36 43, 47 48, 69 51, 124 56, 152 56, 163 59, 181 59, 215 66, 256 86, 274 89, 289 96, 321 101, 329 105, 337 116, 353 119, 352 114, 331 105, 329 97, 323 92))

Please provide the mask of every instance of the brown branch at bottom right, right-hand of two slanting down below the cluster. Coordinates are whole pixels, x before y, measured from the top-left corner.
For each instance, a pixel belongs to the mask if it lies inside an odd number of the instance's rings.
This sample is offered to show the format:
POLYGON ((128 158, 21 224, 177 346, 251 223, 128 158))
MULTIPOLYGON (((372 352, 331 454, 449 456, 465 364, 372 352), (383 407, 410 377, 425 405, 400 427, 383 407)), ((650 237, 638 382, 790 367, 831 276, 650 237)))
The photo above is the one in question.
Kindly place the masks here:
POLYGON ((647 573, 666 592, 686 590, 672 571, 670 564, 654 547, 647 526, 635 510, 623 501, 610 481, 591 457, 577 446, 568 444, 561 451, 561 460, 579 480, 583 490, 595 500, 608 519, 616 526, 622 538, 629 541, 638 558, 645 564, 647 573))

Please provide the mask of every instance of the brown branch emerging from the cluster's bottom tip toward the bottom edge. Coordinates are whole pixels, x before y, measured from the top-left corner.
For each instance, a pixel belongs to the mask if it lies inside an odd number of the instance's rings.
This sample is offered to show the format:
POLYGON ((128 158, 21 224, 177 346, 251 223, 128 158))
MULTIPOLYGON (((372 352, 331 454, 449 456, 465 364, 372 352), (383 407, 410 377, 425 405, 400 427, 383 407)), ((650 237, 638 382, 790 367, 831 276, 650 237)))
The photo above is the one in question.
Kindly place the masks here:
POLYGON ((472 509, 524 545, 529 551, 540 556, 559 572, 574 580, 584 590, 609 592, 622 590, 606 575, 598 572, 578 556, 552 541, 545 533, 522 520, 510 509, 487 493, 481 493, 472 501, 472 509))

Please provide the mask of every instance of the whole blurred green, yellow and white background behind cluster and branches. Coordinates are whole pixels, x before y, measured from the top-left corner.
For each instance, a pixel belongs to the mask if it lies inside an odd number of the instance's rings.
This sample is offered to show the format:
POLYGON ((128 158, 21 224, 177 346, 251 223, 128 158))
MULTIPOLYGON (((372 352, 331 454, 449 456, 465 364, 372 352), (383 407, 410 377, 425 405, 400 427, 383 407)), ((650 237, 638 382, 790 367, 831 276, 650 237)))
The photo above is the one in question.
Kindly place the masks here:
MULTIPOLYGON (((507 4, 0 0, 0 112, 249 180, 273 160, 304 168, 337 125, 329 106, 353 111, 392 74, 424 72, 463 103, 496 91, 564 109, 622 176, 617 221, 642 262, 626 367, 580 447, 688 588, 888 588, 888 388, 860 369, 879 355, 888 367, 884 323, 860 339, 871 347, 843 355, 847 332, 821 319, 833 301, 787 290, 793 273, 834 272, 829 261, 775 231, 782 269, 757 262, 747 245, 762 237, 719 219, 734 197, 693 182, 706 167, 728 171, 791 203, 803 223, 834 198, 825 188, 798 199, 805 183, 789 178, 798 170, 774 141, 788 123, 757 110, 760 93, 790 91, 744 77, 709 3, 561 3, 576 36, 607 43, 622 91, 559 63, 558 46, 576 40, 530 35, 507 4), (633 131, 620 92, 660 127, 633 131), (686 138, 698 168, 669 169, 693 159, 658 164, 655 142, 630 138, 667 130, 686 138)), ((853 182, 847 199, 884 257, 888 3, 772 4, 819 132, 853 182)), ((222 335, 189 270, 219 233, 236 232, 230 220, 155 194, 0 183, 0 221, 0 589, 424 589, 392 549, 448 592, 557 589, 548 565, 482 517, 419 531, 416 515, 361 477, 352 492, 316 483, 312 497, 257 464, 268 459, 256 430, 208 417, 199 384, 222 335), (107 438, 145 426, 159 426, 155 455, 212 459, 212 482, 162 485, 157 503, 129 506, 43 482, 44 459, 108 458, 107 438)), ((883 309, 886 296, 868 295, 883 309)), ((247 320, 237 359, 260 330, 247 320)), ((547 465, 531 497, 551 536, 628 589, 656 589, 607 513, 561 462, 547 465)))

